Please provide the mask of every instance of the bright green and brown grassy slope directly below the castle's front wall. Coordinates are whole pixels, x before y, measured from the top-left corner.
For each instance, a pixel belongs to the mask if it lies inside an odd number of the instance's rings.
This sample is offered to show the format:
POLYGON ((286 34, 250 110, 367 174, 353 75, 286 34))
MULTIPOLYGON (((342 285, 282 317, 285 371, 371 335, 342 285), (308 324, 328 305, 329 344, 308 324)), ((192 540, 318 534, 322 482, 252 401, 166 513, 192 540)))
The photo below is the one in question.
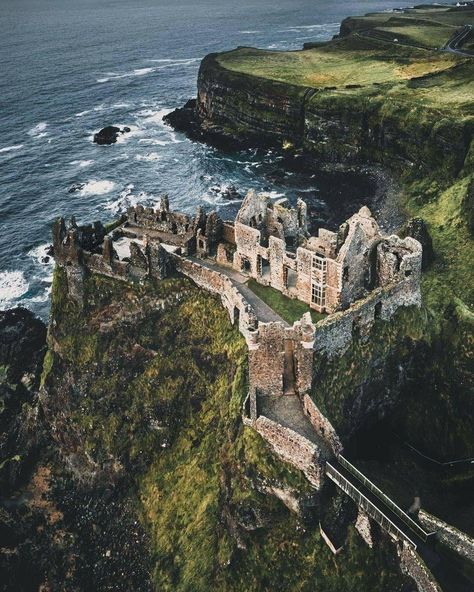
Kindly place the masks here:
POLYGON ((317 523, 303 528, 260 492, 310 488, 242 425, 246 347, 217 299, 187 280, 128 286, 96 275, 86 293, 82 311, 56 271, 43 383, 53 420, 67 418, 64 452, 78 429, 90 458, 123 467, 156 590, 401 589, 385 543, 370 551, 351 530, 336 560, 317 523), (171 297, 164 310, 156 296, 171 297))

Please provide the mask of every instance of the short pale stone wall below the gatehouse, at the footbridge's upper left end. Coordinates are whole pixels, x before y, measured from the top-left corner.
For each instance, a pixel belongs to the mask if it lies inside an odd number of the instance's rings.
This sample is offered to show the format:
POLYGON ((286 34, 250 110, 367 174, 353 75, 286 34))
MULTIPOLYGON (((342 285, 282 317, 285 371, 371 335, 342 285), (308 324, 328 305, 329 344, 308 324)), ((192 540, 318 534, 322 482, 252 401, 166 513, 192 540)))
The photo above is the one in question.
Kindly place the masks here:
POLYGON ((308 481, 316 489, 321 487, 324 478, 324 463, 321 451, 316 444, 263 415, 252 425, 282 460, 303 471, 308 481))

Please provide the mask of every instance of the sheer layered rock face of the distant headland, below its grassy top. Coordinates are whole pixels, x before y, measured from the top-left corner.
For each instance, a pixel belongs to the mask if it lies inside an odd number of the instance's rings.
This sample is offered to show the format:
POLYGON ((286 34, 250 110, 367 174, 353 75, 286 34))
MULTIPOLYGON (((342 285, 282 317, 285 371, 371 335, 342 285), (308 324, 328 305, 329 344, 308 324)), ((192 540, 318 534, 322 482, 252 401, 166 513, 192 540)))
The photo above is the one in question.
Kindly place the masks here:
MULTIPOLYGON (((470 71, 465 66, 464 75, 470 71)), ((446 76, 413 79, 408 87, 441 87, 446 76)), ((296 86, 227 69, 218 54, 201 64, 197 114, 210 139, 224 136, 234 146, 291 142, 321 162, 375 162, 397 170, 416 167, 417 173, 436 169, 445 177, 463 168, 473 130, 457 113, 446 110, 440 117, 416 98, 407 103, 390 84, 296 86)))

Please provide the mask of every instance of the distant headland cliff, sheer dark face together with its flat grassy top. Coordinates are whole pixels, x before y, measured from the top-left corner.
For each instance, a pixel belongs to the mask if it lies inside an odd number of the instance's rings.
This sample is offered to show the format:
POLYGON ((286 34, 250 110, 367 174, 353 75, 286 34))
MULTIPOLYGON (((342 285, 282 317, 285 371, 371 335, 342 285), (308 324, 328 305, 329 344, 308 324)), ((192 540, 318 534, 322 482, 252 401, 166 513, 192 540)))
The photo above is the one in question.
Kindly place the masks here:
POLYGON ((295 52, 310 54, 311 62, 319 54, 330 56, 326 69, 313 78, 321 83, 313 85, 308 85, 310 75, 289 74, 305 64, 302 57, 280 64, 275 52, 251 48, 207 56, 197 99, 205 137, 224 136, 229 145, 290 142, 320 162, 369 161, 399 171, 416 167, 417 174, 437 169, 445 178, 457 175, 471 150, 474 125, 467 95, 457 102, 449 95, 455 98, 460 82, 472 79, 472 60, 427 60, 426 52, 407 48, 394 57, 375 40, 333 44, 295 52), (360 81, 350 74, 351 67, 372 68, 377 56, 387 71, 360 81), (335 63, 344 65, 336 77, 331 73, 335 63), (397 68, 399 74, 392 76, 397 68))

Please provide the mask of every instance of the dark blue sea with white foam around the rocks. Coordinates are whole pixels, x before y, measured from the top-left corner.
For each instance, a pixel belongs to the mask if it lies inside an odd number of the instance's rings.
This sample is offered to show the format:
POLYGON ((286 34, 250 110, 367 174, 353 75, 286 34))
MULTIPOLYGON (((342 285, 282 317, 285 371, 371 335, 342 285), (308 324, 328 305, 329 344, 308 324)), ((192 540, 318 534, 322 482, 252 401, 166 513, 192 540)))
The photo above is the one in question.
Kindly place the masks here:
MULTIPOLYGON (((0 309, 46 318, 51 222, 114 218, 168 193, 173 207, 227 208, 216 188, 268 189, 273 155, 229 156, 162 123, 195 96, 209 52, 252 45, 297 49, 336 34, 379 0, 0 0, 0 309), (106 125, 131 133, 97 146, 106 125), (81 189, 70 192, 73 186, 81 189)), ((318 179, 298 189, 324 206, 318 179), (320 195, 319 193, 320 192, 320 195)), ((234 208, 237 206, 233 206, 234 208)))

